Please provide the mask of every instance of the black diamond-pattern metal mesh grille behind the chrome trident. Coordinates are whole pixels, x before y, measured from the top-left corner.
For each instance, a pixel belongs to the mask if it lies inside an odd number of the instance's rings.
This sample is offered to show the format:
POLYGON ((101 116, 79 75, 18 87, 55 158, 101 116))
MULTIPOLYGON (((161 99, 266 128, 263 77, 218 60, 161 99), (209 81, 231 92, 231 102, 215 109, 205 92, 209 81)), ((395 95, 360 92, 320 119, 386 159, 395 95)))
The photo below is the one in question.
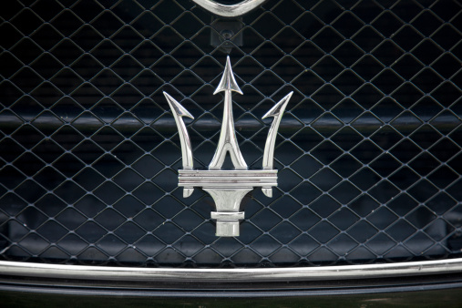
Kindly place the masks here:
MULTIPOLYGON (((242 153, 261 166, 262 115, 294 91, 272 199, 243 200, 238 238, 177 187, 161 91, 195 117, 195 164, 221 127, 226 54, 190 1, 0 4, 3 260, 183 266, 448 258, 462 249, 461 6, 457 1, 269 1, 231 48, 242 153), (459 20, 459 22, 457 22, 459 20), (238 44, 239 45, 239 44, 238 44)), ((232 42, 224 41, 226 46, 232 42)))

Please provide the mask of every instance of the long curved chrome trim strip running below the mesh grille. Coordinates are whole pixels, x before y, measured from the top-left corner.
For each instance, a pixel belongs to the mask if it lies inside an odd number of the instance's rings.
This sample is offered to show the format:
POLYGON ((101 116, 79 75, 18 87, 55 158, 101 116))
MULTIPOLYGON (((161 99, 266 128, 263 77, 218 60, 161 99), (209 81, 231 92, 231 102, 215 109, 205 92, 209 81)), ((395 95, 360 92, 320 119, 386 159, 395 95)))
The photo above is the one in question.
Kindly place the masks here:
POLYGON ((303 282, 462 273, 462 258, 272 269, 177 269, 0 261, 0 275, 115 282, 303 282))

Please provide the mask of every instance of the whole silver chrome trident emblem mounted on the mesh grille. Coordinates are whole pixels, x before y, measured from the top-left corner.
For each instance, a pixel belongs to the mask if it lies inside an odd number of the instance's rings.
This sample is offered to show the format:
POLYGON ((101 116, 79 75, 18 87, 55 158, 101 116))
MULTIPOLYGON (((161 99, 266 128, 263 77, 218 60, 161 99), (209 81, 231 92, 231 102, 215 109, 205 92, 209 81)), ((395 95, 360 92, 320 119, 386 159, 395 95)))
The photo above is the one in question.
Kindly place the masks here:
POLYGON ((263 118, 274 117, 274 119, 264 147, 262 169, 249 170, 242 157, 234 130, 231 92, 234 91, 239 94, 242 92, 234 79, 229 56, 220 84, 213 94, 221 91, 224 91, 221 134, 208 170, 193 169, 190 136, 182 119, 182 117, 193 117, 175 98, 170 97, 166 92, 164 95, 169 102, 180 134, 183 169, 179 170, 178 179, 179 186, 183 187, 183 197, 190 197, 194 187, 200 187, 207 191, 217 207, 217 211, 210 213, 211 219, 217 221, 216 235, 231 237, 239 236, 239 221, 244 219, 244 212, 240 211, 242 198, 255 187, 261 187, 263 193, 271 198, 272 186, 277 186, 277 170, 272 169, 274 143, 282 114, 293 92, 282 98, 263 116, 263 118), (228 152, 234 169, 222 170, 221 166, 228 152))

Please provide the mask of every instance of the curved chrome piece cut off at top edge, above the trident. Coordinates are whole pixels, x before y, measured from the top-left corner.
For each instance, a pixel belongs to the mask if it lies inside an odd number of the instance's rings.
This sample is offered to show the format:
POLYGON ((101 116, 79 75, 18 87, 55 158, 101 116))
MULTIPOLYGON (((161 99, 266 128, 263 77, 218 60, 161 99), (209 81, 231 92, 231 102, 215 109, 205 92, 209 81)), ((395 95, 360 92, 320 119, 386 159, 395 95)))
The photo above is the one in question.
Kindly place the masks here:
POLYGON ((237 5, 222 5, 213 0, 192 0, 196 4, 202 6, 210 13, 223 17, 237 17, 244 15, 258 5, 262 5, 266 0, 243 0, 237 5))

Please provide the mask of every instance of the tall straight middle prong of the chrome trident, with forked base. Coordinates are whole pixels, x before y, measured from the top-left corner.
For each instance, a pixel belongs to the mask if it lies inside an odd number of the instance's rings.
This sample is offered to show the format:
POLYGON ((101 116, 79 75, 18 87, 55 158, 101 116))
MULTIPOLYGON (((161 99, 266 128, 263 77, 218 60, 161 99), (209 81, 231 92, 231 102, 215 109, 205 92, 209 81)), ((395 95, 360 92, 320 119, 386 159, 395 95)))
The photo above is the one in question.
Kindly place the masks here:
POLYGON ((218 147, 210 161, 209 169, 221 169, 226 153, 230 152, 231 161, 235 169, 247 169, 247 164, 239 149, 238 140, 236 139, 236 132, 234 130, 234 119, 232 118, 232 99, 231 91, 242 94, 234 79, 234 74, 231 69, 230 56, 226 57, 226 66, 224 67, 223 76, 221 77, 220 84, 213 94, 224 91, 224 108, 223 108, 223 122, 221 123, 220 139, 218 147))

